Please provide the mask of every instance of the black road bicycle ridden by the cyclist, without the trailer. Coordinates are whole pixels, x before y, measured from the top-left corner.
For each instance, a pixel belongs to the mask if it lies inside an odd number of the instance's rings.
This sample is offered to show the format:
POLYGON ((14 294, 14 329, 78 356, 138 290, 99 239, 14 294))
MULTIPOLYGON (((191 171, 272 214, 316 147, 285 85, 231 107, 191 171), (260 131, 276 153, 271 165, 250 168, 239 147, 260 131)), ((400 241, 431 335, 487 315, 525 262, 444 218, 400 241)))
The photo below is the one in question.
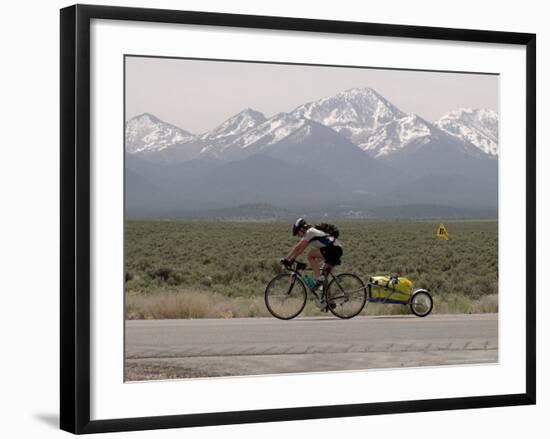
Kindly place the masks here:
POLYGON ((302 271, 306 264, 294 261, 285 265, 289 273, 275 276, 265 289, 264 299, 269 312, 278 319, 290 320, 305 308, 308 291, 313 294, 322 311, 330 311, 341 319, 351 319, 359 314, 367 301, 367 287, 359 276, 351 273, 332 274, 332 267, 325 264, 325 277, 319 288, 306 284, 302 271))

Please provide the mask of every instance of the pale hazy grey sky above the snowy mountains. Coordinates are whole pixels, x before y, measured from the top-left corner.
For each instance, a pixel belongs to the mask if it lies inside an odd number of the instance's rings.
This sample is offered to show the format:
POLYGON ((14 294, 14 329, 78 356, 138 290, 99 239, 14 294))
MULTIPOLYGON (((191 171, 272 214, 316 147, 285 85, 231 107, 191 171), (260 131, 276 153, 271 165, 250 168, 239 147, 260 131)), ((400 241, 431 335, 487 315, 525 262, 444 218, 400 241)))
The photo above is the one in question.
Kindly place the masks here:
POLYGON ((461 107, 498 111, 495 75, 127 57, 126 118, 148 112, 198 134, 246 107, 270 117, 353 87, 429 121, 461 107))

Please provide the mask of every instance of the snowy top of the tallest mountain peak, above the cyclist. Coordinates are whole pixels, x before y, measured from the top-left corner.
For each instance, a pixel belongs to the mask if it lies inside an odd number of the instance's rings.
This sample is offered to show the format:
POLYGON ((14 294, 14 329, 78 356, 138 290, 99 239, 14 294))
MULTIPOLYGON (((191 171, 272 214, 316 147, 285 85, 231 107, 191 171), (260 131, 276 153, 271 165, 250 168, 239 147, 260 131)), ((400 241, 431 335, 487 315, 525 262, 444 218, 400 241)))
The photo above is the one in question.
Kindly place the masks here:
POLYGON ((328 126, 364 149, 381 127, 406 114, 372 88, 352 88, 309 102, 292 114, 328 126))

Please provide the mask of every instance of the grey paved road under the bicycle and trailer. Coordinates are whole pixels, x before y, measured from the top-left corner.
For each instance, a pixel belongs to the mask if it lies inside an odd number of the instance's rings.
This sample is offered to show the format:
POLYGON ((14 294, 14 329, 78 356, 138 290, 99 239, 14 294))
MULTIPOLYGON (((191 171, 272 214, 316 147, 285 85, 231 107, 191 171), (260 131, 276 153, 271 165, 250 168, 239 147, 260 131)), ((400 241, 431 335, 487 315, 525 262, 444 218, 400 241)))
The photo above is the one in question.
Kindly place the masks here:
POLYGON ((496 314, 130 320, 126 379, 498 361, 496 314))

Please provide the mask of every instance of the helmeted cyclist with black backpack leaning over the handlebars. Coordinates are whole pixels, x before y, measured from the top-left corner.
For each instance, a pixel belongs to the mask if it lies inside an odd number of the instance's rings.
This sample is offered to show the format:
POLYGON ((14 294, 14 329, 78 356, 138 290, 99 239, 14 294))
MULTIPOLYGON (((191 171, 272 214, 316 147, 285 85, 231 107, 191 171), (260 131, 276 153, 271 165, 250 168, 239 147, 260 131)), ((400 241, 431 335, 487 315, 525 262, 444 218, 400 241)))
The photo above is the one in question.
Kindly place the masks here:
POLYGON ((312 249, 307 255, 307 260, 315 278, 315 288, 319 288, 325 281, 321 273, 320 261, 324 261, 329 267, 341 263, 342 243, 334 236, 316 229, 303 218, 298 218, 292 226, 292 235, 301 239, 294 245, 290 253, 281 262, 290 265, 311 244, 312 249))

